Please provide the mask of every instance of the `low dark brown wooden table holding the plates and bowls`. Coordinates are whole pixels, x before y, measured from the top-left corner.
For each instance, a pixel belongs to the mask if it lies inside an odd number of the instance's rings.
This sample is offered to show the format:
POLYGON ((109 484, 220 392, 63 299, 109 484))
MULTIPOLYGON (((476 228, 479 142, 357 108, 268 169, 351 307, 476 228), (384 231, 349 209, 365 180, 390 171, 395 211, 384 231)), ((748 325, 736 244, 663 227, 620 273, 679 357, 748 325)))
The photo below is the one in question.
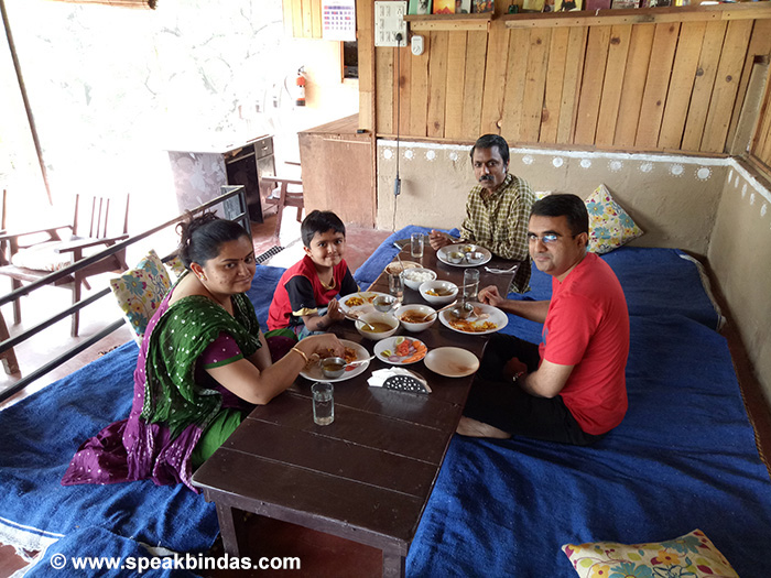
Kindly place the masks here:
MULTIPOLYGON (((437 263, 431 249, 423 262, 439 279, 461 283, 463 269, 437 263)), ((511 275, 480 270, 481 286, 492 281, 506 292, 511 275)), ((378 280, 371 288, 382 284, 378 280)), ((417 292, 405 292, 408 302, 422 299, 417 292)), ((374 341, 362 340, 350 321, 338 324, 335 334, 373 350, 374 341)), ((487 342, 485 336, 461 335, 438 320, 415 336, 428 349, 461 347, 479 358, 487 342)), ((426 378, 433 393, 370 388, 367 378, 386 367, 374 359, 360 375, 335 383, 335 422, 328 426, 314 424, 311 381, 298 378, 270 404, 256 407, 195 472, 193 483, 217 505, 228 554, 243 555, 235 517, 242 510, 380 548, 383 576, 404 575, 473 375, 445 378, 421 361, 410 368, 426 378)))

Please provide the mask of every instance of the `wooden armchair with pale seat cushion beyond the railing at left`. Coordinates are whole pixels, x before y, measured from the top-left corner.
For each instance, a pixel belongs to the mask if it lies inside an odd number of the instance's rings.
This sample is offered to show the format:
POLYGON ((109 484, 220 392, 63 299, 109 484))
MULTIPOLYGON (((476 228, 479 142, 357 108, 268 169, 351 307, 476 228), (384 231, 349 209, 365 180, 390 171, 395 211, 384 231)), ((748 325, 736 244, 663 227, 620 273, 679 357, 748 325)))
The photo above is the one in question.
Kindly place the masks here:
MULTIPOLYGON (((10 264, 0 266, 0 275, 11 277, 13 290, 22 286, 24 282, 30 283, 50 275, 56 270, 61 270, 69 263, 76 263, 88 257, 85 250, 91 249, 91 253, 104 250, 118 241, 127 239, 129 226, 129 196, 126 197, 126 214, 122 222, 122 233, 113 237, 108 236, 108 221, 110 217, 110 199, 105 197, 93 197, 90 206, 88 203, 80 205, 80 195, 75 197, 75 214, 72 223, 54 225, 40 229, 22 232, 11 232, 0 235, 0 243, 8 242, 10 264), (80 219, 80 216, 88 216, 80 219), (72 237, 63 240, 59 231, 69 230, 72 237), (39 239, 44 237, 43 242, 28 241, 24 239, 39 239), (47 237, 47 238, 46 238, 47 237)), ((122 272, 128 269, 126 264, 126 250, 110 255, 101 261, 91 263, 65 277, 55 281, 56 286, 67 286, 73 292, 73 304, 80 301, 82 287, 90 288, 88 277, 108 272, 122 272)), ((21 323, 20 299, 13 302, 13 321, 21 323)), ((70 335, 77 337, 79 329, 79 312, 73 313, 70 335)))

